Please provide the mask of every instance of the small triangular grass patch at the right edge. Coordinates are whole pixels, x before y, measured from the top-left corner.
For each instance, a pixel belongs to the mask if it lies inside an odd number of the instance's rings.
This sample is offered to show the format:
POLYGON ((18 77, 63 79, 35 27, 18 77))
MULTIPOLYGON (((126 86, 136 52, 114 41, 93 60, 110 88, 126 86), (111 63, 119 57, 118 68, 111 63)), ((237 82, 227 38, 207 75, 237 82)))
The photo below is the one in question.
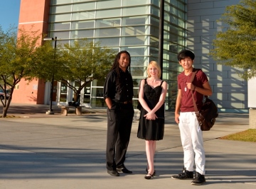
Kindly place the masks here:
POLYGON ((256 142, 256 129, 250 129, 235 134, 229 134, 225 137, 220 137, 220 139, 256 142))

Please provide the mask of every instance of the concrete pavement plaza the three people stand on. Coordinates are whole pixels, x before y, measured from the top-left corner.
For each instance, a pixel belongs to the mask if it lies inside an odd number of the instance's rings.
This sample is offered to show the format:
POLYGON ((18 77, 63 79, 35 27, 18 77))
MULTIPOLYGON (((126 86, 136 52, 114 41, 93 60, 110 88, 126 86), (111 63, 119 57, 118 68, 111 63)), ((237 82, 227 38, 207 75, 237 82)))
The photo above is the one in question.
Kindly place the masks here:
MULTIPOLYGON (((191 185, 171 176, 183 167, 183 149, 174 113, 166 112, 164 139, 156 143, 156 177, 144 179, 145 142, 137 138, 134 120, 125 165, 133 171, 107 174, 105 109, 84 114, 46 115, 48 105, 12 104, 0 119, 0 188, 255 188, 256 143, 218 139, 248 129, 248 114, 220 113, 212 130, 203 132, 206 183, 191 185)), ((1 108, 0 108, 1 110, 1 108)))

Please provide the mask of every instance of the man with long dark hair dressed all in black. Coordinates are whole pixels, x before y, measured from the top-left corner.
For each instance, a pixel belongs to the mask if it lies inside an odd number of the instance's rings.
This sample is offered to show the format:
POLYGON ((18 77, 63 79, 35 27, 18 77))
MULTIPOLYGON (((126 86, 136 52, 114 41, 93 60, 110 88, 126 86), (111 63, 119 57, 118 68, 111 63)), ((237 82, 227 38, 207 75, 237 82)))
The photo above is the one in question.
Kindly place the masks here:
POLYGON ((124 166, 134 116, 133 81, 128 71, 130 64, 129 52, 119 52, 104 84, 107 104, 106 167, 111 176, 119 176, 119 172, 132 173, 124 166))

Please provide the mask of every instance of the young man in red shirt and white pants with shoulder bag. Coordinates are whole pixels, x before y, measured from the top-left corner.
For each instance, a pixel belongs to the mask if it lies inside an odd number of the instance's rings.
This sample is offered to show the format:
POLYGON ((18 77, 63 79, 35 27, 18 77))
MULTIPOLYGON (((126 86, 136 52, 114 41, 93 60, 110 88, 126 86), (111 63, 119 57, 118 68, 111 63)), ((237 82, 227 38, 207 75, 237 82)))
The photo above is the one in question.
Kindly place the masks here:
POLYGON ((212 90, 206 74, 197 69, 196 76, 191 83, 193 61, 195 55, 190 50, 181 50, 178 53, 178 63, 183 67, 183 72, 178 74, 178 95, 176 100, 175 121, 181 133, 183 147, 183 171, 174 179, 193 179, 193 185, 201 185, 206 182, 205 164, 206 155, 203 148, 203 134, 196 118, 193 105, 193 98, 196 101, 198 110, 203 105, 203 96, 211 96, 212 90), (196 174, 193 178, 193 165, 196 164, 196 174))

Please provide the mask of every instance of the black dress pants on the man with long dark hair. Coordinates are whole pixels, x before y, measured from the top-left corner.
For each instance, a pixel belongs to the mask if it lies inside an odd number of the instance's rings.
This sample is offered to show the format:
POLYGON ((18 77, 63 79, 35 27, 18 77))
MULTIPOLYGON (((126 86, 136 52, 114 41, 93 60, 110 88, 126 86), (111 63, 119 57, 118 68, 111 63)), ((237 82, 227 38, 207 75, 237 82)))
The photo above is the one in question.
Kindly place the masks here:
POLYGON ((133 117, 132 103, 117 103, 112 105, 111 110, 107 108, 106 167, 110 171, 124 164, 133 117))

